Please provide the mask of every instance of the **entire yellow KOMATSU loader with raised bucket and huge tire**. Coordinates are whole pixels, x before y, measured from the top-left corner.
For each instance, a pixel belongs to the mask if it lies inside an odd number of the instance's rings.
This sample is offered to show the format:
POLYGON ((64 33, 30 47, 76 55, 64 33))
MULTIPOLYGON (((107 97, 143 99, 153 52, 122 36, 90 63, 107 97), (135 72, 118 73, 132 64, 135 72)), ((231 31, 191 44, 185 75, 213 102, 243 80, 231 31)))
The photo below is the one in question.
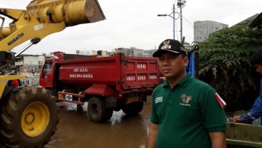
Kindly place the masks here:
MULTIPOLYGON (((31 46, 68 26, 102 21, 105 15, 97 0, 33 0, 26 10, 1 8, 0 19, 1 72, 14 63, 11 49, 21 43, 31 40, 31 46), (13 20, 9 27, 4 27, 6 17, 13 20)), ((0 142, 2 147, 43 147, 59 122, 56 97, 40 86, 13 90, 6 85, 22 78, 26 76, 0 75, 0 142)))

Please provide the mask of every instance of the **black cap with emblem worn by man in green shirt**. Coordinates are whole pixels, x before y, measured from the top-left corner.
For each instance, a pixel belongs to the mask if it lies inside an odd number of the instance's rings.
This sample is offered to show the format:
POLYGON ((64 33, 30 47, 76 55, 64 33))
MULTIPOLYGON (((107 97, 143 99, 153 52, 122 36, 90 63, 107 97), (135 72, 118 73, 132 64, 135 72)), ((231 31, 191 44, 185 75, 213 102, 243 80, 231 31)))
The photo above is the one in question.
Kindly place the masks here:
POLYGON ((162 41, 158 47, 158 50, 153 53, 153 57, 159 57, 163 51, 169 51, 178 54, 183 53, 184 55, 187 54, 187 50, 184 48, 184 46, 182 46, 182 43, 173 39, 162 41))

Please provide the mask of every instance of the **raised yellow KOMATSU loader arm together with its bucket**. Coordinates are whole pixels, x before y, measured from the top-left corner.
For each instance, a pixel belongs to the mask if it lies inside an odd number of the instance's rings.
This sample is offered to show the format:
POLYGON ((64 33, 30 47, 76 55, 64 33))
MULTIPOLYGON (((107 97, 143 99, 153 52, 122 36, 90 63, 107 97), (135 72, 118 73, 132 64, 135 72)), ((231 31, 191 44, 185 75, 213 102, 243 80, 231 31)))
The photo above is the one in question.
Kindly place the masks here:
POLYGON ((97 0, 34 0, 26 9, 0 9, 0 15, 13 19, 9 27, 0 28, 0 51, 10 51, 25 41, 42 39, 68 26, 105 19, 97 0))

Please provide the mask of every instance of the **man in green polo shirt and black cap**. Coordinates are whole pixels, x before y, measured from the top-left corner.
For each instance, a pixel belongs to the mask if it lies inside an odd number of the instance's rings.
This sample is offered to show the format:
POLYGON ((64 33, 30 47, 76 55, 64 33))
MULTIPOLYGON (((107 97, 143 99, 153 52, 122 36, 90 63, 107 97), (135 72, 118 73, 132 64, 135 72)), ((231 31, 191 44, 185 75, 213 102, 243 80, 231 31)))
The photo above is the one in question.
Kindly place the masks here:
POLYGON ((226 147, 226 103, 214 88, 186 73, 184 46, 167 39, 153 56, 166 80, 152 93, 148 147, 226 147))

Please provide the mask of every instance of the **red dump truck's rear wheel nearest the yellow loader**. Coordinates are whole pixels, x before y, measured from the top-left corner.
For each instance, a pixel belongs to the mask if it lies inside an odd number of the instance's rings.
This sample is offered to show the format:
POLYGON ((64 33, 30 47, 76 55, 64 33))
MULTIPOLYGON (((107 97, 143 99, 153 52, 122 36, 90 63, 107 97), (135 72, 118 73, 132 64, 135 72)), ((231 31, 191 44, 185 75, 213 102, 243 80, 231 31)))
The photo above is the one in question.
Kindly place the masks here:
POLYGON ((107 120, 105 102, 99 97, 91 97, 88 101, 88 116, 93 122, 104 122, 107 120))

